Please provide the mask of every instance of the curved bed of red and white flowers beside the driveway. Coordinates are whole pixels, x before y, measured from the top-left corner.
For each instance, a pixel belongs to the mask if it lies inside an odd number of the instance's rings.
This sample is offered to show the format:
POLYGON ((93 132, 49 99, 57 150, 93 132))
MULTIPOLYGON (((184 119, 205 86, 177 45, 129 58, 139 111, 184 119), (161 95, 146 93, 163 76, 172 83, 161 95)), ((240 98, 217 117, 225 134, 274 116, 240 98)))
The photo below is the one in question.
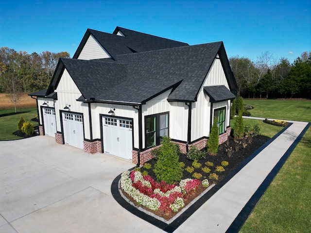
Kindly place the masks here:
POLYGON ((151 210, 177 212, 185 206, 184 198, 200 185, 197 179, 185 179, 179 185, 168 184, 164 181, 155 182, 147 175, 142 176, 139 171, 125 171, 121 175, 121 188, 129 196, 151 210))

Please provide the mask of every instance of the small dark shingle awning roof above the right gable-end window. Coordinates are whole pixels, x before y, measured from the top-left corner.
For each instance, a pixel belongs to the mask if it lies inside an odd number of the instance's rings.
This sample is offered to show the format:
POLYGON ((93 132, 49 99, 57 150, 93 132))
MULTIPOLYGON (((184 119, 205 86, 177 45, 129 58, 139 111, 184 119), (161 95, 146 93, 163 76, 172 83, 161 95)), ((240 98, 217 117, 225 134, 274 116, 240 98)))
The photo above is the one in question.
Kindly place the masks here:
POLYGON ((224 85, 218 86, 204 86, 204 92, 208 95, 210 102, 220 102, 224 100, 231 100, 235 98, 235 95, 228 90, 224 85))

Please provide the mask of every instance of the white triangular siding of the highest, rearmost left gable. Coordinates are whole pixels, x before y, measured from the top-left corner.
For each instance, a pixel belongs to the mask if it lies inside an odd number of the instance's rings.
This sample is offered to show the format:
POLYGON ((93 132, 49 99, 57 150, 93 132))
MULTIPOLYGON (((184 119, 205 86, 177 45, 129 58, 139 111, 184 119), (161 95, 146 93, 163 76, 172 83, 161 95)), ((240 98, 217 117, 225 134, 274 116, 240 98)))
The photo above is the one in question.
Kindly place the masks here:
POLYGON ((109 58, 107 51, 98 43, 98 41, 90 35, 81 50, 78 59, 92 60, 100 58, 109 58))

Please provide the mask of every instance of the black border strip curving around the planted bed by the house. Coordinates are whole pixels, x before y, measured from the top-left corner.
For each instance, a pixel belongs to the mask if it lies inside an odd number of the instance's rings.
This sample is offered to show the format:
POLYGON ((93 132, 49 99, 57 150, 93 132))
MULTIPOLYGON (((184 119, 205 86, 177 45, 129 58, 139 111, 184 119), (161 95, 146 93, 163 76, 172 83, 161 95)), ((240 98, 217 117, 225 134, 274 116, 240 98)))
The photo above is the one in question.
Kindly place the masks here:
MULTIPOLYGON (((209 190, 205 195, 203 195, 199 200, 197 200, 195 203, 193 203, 183 214, 181 214, 179 217, 177 217, 172 223, 166 224, 165 222, 162 222, 153 216, 150 216, 144 212, 139 211, 136 207, 128 203, 126 200, 124 200, 121 197, 121 194, 119 192, 119 180, 121 179, 121 174, 117 176, 111 185, 111 193, 113 198, 127 211, 131 212, 133 215, 138 216, 139 218, 153 224, 154 226, 160 228, 161 230, 167 232, 167 233, 173 233, 182 223, 184 223, 198 208, 200 208, 209 198, 211 198, 219 189, 221 189, 225 183, 227 183, 233 176, 235 176, 244 166, 246 166, 253 158, 255 158, 261 150, 269 146, 280 134, 282 134, 287 128, 289 128, 293 123, 289 123, 286 127, 284 127, 281 131, 276 133, 269 141, 267 141, 265 144, 263 144, 259 149, 257 149, 253 154, 248 156, 239 166, 237 166, 234 170, 232 170, 223 180, 221 180, 219 183, 217 183, 211 190, 209 190)), ((309 128, 309 127, 308 127, 309 128)), ((299 135, 300 136, 300 135, 299 135)), ((298 137, 299 137, 298 136, 298 137)), ((298 138, 297 137, 297 138, 298 138)), ((301 139, 301 138, 300 138, 301 139)), ((298 140, 298 142, 300 141, 298 140)), ((296 139, 297 140, 297 139, 296 139)), ((297 143, 298 143, 297 142, 297 143)), ((294 141, 295 143, 295 141, 294 141)), ((293 144, 294 144, 293 143, 293 144)), ((296 143, 296 144, 297 144, 296 143)), ((292 144, 292 146, 293 146, 292 144)), ((294 147, 296 146, 294 145, 294 147)), ((292 147, 291 146, 291 147, 292 147)), ((291 148, 290 147, 290 148, 291 148)), ((294 150, 293 147, 293 150, 294 150)), ((134 169, 134 167, 132 168, 134 169)), ((130 170, 132 170, 130 169, 130 170)), ((269 186, 269 185, 268 185, 269 186)), ((259 186, 260 187, 260 186, 259 186)), ((264 191, 263 191, 264 192, 264 191)), ((262 194, 263 194, 262 192, 262 194)), ((260 197, 262 196, 260 195, 260 197)), ((259 198, 260 198, 259 197, 259 198)), ((255 205, 254 205, 255 206, 255 205)), ((245 208, 245 207, 244 207, 245 208)), ((254 208, 254 207, 253 207, 254 208)), ((251 211, 253 210, 251 209, 251 211)), ((242 212, 242 211, 241 211, 242 212)), ((241 214, 240 212, 240 214, 241 214)), ((239 215, 240 215, 239 214, 239 215)), ((247 218, 247 217, 246 217, 247 218)), ((246 220, 245 218, 245 220, 246 220)), ((245 221, 244 220, 244 221, 245 221)), ((244 223, 244 222, 243 222, 244 223)), ((232 224, 231 224, 232 225, 232 224)), ((231 227, 231 226, 230 226, 231 227)), ((240 226, 240 228, 242 225, 240 226)), ((239 228, 239 229, 240 229, 239 228)))

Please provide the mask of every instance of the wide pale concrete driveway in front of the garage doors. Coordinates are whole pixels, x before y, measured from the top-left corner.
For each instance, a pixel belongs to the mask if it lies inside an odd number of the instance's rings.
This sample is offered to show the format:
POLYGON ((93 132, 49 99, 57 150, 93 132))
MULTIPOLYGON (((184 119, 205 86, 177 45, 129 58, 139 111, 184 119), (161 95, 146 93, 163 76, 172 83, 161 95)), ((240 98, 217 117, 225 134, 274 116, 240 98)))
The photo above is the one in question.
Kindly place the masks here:
POLYGON ((163 232, 112 197, 114 178, 133 166, 49 136, 0 141, 0 233, 163 232))

